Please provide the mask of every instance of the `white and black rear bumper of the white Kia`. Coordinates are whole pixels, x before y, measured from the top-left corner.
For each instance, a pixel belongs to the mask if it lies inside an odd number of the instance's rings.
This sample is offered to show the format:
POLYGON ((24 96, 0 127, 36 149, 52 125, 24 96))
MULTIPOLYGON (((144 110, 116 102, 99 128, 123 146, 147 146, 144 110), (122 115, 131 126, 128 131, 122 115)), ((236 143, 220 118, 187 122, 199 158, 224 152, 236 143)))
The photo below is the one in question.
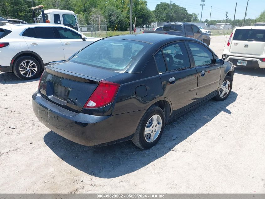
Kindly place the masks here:
MULTIPOLYGON (((226 53, 225 53, 226 54, 226 53)), ((233 55, 226 54, 226 58, 223 55, 224 60, 232 62, 235 66, 237 66, 237 61, 247 61, 246 66, 238 65, 241 67, 247 68, 265 68, 265 62, 262 62, 259 58, 249 58, 249 57, 237 57, 233 55)))

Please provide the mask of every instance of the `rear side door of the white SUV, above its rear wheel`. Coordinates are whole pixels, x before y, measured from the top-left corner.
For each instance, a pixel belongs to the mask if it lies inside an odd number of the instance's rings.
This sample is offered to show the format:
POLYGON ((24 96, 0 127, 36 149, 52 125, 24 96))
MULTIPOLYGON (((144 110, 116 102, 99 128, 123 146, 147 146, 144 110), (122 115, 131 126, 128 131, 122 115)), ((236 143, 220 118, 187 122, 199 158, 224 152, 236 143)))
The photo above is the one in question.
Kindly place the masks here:
POLYGON ((29 50, 40 55, 44 64, 64 60, 62 43, 56 38, 51 26, 28 28, 22 36, 29 50))

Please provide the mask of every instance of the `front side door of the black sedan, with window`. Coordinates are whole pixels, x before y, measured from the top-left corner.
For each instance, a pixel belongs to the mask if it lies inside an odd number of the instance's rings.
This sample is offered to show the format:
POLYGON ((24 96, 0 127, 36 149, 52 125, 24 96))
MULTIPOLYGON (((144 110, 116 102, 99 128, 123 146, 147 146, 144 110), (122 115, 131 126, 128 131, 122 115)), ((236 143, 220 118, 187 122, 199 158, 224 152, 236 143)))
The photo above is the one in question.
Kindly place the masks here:
POLYGON ((220 85, 221 67, 215 64, 214 54, 204 45, 188 41, 197 71, 198 88, 195 104, 214 95, 220 85))

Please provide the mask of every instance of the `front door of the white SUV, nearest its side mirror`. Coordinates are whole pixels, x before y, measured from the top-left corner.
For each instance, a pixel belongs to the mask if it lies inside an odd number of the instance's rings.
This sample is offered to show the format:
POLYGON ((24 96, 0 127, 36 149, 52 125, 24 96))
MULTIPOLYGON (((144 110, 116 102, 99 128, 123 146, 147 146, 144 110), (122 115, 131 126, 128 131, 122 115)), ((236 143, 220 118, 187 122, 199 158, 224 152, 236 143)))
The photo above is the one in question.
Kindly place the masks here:
POLYGON ((68 59, 74 53, 88 46, 92 41, 83 41, 81 34, 63 27, 55 27, 64 49, 64 59, 68 59))

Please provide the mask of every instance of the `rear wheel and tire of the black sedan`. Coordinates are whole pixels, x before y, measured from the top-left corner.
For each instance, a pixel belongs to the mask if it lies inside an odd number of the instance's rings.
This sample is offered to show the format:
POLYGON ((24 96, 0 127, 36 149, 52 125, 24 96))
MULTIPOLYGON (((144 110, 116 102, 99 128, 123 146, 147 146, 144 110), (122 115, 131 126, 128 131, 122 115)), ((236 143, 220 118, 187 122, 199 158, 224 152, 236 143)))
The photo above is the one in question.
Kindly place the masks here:
POLYGON ((141 118, 133 143, 141 148, 148 149, 154 146, 160 139, 165 126, 165 114, 161 108, 151 106, 141 118))

